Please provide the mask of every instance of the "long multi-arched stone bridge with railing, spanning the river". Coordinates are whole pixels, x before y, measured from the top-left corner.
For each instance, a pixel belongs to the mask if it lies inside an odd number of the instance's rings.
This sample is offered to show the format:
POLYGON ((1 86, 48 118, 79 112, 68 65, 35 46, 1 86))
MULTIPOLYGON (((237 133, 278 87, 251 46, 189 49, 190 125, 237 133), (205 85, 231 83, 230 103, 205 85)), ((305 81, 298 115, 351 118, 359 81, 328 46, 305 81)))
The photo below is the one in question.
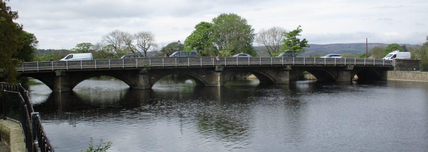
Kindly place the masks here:
POLYGON ((187 75, 204 86, 223 86, 235 75, 250 72, 261 83, 287 84, 302 72, 317 80, 380 80, 394 61, 314 57, 154 57, 111 60, 31 62, 16 66, 21 76, 45 83, 53 92, 71 91, 91 77, 111 76, 132 89, 150 89, 168 75, 187 75))

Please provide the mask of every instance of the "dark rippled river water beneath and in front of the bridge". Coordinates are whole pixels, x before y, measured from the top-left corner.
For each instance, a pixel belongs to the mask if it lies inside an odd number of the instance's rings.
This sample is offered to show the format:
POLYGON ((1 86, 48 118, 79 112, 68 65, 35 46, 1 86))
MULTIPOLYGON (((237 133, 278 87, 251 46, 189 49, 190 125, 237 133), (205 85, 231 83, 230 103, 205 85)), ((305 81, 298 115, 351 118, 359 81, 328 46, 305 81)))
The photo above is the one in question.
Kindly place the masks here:
POLYGON ((163 79, 137 90, 89 79, 73 92, 28 90, 57 152, 90 138, 112 152, 428 151, 428 83, 163 79))

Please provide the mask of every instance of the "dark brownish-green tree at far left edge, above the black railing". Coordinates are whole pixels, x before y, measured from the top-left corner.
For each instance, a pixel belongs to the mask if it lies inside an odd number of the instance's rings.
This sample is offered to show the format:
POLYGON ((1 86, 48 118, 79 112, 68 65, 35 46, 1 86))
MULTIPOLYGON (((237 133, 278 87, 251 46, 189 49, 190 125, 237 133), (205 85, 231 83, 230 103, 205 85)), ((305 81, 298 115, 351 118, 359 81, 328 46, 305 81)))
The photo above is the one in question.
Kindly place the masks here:
POLYGON ((0 0, 0 80, 16 83, 18 60, 12 57, 23 48, 24 37, 22 25, 13 22, 18 19, 18 12, 11 11, 6 1, 0 0))

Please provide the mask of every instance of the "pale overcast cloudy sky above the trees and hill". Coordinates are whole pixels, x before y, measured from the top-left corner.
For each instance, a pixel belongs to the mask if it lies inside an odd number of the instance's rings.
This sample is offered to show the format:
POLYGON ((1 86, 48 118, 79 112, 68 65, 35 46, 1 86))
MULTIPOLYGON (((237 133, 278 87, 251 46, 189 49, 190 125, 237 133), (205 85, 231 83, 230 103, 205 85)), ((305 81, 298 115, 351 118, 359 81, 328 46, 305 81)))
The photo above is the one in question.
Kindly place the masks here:
MULTIPOLYGON (((221 13, 247 19, 259 32, 302 26, 309 44, 421 44, 428 35, 428 0, 10 0, 39 49, 97 43, 116 29, 151 31, 161 45, 182 43, 202 21, 221 13)), ((257 46, 257 43, 254 43, 257 46)))

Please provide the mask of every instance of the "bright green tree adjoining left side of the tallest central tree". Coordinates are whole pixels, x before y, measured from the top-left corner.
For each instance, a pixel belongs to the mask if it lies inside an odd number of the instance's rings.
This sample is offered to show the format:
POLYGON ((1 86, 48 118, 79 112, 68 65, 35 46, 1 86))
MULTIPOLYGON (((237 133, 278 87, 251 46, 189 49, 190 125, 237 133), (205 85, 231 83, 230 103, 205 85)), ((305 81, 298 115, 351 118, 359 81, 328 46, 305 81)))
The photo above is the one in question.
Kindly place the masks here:
POLYGON ((195 30, 184 40, 185 51, 197 51, 200 56, 214 56, 217 48, 212 43, 213 23, 201 22, 195 26, 195 30))

